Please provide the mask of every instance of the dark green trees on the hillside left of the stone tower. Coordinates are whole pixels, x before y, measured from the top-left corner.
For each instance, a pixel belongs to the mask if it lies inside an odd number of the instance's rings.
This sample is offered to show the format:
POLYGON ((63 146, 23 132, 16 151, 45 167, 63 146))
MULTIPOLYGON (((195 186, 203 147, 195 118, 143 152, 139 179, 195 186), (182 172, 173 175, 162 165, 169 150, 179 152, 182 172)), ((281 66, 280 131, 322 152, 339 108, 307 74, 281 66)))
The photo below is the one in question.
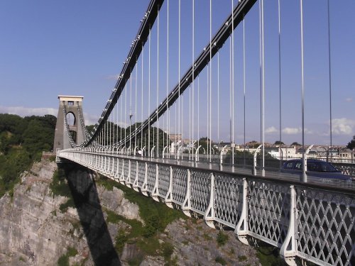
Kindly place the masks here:
POLYGON ((53 149, 55 116, 0 113, 0 197, 11 191, 21 172, 53 149))

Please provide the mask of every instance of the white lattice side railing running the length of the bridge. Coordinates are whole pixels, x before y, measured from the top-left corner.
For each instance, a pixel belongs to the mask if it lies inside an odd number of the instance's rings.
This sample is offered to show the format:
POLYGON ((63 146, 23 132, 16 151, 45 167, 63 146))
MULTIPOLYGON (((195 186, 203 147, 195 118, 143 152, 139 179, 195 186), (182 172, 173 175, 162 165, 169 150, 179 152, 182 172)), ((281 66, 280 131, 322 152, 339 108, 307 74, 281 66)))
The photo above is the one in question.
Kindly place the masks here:
POLYGON ((211 227, 234 230, 241 242, 256 238, 280 248, 289 265, 295 258, 317 265, 355 265, 354 189, 302 183, 273 173, 176 160, 59 151, 58 161, 77 162, 156 201, 203 216, 211 227), (175 162, 175 163, 172 163, 175 162))

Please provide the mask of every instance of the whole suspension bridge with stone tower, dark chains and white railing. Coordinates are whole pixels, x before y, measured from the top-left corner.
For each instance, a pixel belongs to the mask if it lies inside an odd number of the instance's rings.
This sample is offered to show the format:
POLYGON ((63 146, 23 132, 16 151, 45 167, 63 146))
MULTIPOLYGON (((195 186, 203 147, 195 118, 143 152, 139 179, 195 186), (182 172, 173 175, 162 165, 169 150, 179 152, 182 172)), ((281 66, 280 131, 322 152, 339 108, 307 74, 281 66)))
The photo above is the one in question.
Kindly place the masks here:
POLYGON ((334 147, 339 97, 355 84, 345 2, 152 0, 97 123, 87 130, 82 96, 59 96, 57 162, 273 245, 288 265, 355 265, 354 178, 306 171, 307 143, 334 147), (266 150, 268 134, 290 132, 302 139, 298 175, 266 150))

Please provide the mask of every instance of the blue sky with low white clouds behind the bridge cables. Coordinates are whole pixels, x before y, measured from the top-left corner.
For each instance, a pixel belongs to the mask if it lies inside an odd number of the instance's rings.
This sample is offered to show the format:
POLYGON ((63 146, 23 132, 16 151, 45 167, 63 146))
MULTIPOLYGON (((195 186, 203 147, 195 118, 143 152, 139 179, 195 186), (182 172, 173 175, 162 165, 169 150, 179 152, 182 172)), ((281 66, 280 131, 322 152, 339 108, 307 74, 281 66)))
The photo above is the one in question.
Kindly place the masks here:
MULTIPOLYGON (((196 0, 195 56, 209 40, 209 1, 196 0)), ((170 10, 178 10, 178 1, 170 0, 170 10)), ((212 34, 231 10, 231 1, 212 1, 212 34)), ((278 9, 277 1, 265 4, 265 89, 266 141, 279 135, 278 117, 278 9)), ((281 1, 281 89, 282 132, 285 143, 301 142, 300 1, 281 1)), ((87 123, 95 123, 121 72, 131 41, 136 37, 148 0, 131 1, 0 1, 0 113, 43 115, 58 112, 58 95, 84 96, 87 123)), ((342 5, 330 0, 333 143, 346 145, 355 135, 355 1, 342 5)), ((180 74, 192 62, 191 1, 182 1, 180 74)), ((178 14, 170 13, 169 87, 178 82, 178 14), (174 40, 176 42, 174 43, 174 40)), ((305 143, 329 144, 329 68, 327 44, 327 1, 304 1, 305 41, 305 143)), ((258 3, 246 16, 246 140, 260 140, 260 80, 258 3)), ((152 65, 156 65, 156 26, 152 30, 152 65)), ((160 15, 160 92, 165 96, 166 1, 160 15)), ((234 33, 235 53, 235 141, 244 138, 243 46, 242 28, 234 33)), ((147 46, 147 45, 146 45, 147 46)), ((144 70, 148 69, 145 48, 144 70)), ((229 140, 229 40, 220 57, 220 117, 217 133, 217 107, 212 108, 212 138, 229 140)), ((139 59, 141 60, 141 58, 139 59)), ((138 62, 140 63, 140 61, 138 62)), ((212 61, 212 99, 217 99, 217 58, 212 61)), ((136 71, 136 70, 134 70, 136 71)), ((133 72, 134 72, 133 71, 133 72)), ((141 69, 138 67, 138 72, 141 69)), ((152 87, 156 84, 152 68, 152 87)), ((144 74, 143 84, 148 74, 144 74)), ((138 76, 139 77, 139 76, 138 76)), ((133 88, 136 81, 133 80, 133 88)), ((137 81, 138 89, 142 81, 137 81)), ((197 96, 195 82, 195 96, 197 96)), ((200 74, 200 123, 207 128, 207 71, 200 74), (205 91, 204 91, 205 90, 205 91)), ((152 97, 155 96, 152 91, 152 97)), ((182 97, 181 116, 188 116, 189 91, 182 97)), ((129 92, 128 98, 129 99, 129 92)), ((133 92, 134 95, 134 92, 133 92)), ((191 95, 191 94, 190 94, 191 95)), ((146 91, 144 92, 146 97, 146 91)), ((139 98, 139 97, 138 97, 139 98)), ((155 98, 154 98, 155 99, 155 98)), ((195 98, 196 99, 196 98, 195 98)), ((141 101, 141 98, 137 99, 141 101)), ((131 109, 135 109, 135 100, 131 109)), ((154 104, 155 101, 154 101, 154 104)), ((153 105, 151 109, 153 109, 153 105)), ((127 107, 128 108, 128 107, 127 107)), ((140 120, 141 112, 136 113, 140 120)), ((146 108, 145 108, 146 109, 146 108)), ((196 109, 196 106, 195 106, 196 109)), ((146 117, 151 111, 144 111, 146 117)), ((127 116, 127 114, 126 114, 127 116)), ((175 113, 170 113, 175 118, 175 113)), ((196 117, 196 113, 195 113, 196 117)), ((134 119, 134 118, 133 118, 134 119)), ((123 119, 124 120, 124 119, 123 119)), ((184 119, 186 121, 188 119, 184 119)), ((121 121, 124 123, 124 121, 121 121)), ((127 123, 127 119, 126 119, 127 123)), ((161 122, 163 123, 163 121, 161 122)), ((160 125, 161 125, 160 123, 160 125)), ((173 125, 170 131, 178 131, 173 125)), ((180 130, 189 135, 188 124, 180 130)), ((173 132, 172 132, 173 133, 173 132)), ((207 135, 201 130, 201 135, 207 135)), ((196 136, 196 132, 195 132, 196 136)))

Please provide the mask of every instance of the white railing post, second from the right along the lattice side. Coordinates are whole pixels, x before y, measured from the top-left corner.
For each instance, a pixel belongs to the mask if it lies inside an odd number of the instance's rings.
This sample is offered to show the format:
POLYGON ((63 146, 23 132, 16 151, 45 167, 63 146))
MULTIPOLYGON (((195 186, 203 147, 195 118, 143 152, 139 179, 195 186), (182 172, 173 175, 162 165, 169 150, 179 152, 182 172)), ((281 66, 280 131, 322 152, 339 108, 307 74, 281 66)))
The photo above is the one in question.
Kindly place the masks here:
POLYGON ((236 233, 238 239, 241 243, 249 245, 248 240, 246 239, 246 235, 249 233, 248 226, 248 182, 246 182, 246 178, 243 178, 243 201, 242 201, 242 209, 241 209, 241 217, 239 218, 239 222, 236 224, 236 233))

